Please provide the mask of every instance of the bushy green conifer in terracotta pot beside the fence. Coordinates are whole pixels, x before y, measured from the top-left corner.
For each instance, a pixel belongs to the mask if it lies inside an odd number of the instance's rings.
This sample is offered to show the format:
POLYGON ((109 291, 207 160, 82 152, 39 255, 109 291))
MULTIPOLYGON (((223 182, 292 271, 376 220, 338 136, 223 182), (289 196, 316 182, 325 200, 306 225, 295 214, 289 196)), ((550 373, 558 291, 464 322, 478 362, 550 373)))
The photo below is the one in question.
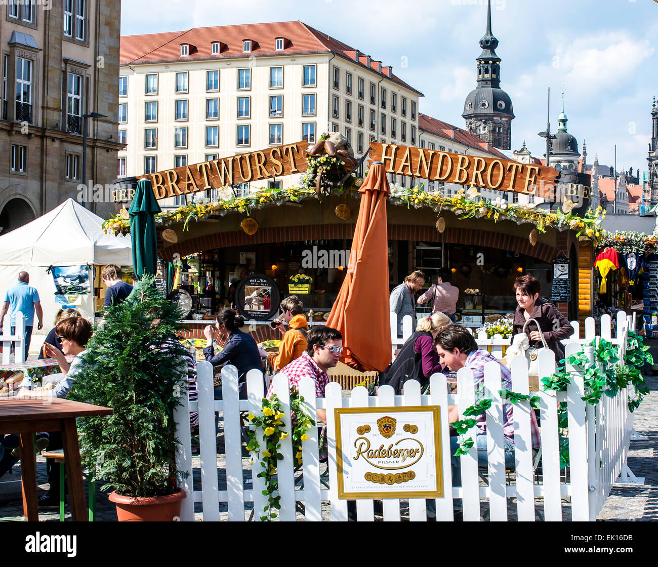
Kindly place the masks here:
POLYGON ((112 416, 78 424, 89 471, 113 487, 120 521, 172 521, 185 493, 178 488, 174 408, 187 387, 187 365, 176 356, 178 306, 147 276, 130 297, 107 308, 83 355, 84 374, 70 399, 111 407, 112 416))

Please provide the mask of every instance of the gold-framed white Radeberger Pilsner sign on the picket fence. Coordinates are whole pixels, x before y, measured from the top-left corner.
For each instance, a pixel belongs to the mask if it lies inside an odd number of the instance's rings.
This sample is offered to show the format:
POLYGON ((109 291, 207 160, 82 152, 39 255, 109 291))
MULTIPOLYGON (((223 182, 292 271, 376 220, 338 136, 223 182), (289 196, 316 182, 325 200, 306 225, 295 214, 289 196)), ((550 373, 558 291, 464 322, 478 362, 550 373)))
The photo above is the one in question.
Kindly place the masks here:
POLYGON ((438 406, 334 412, 340 499, 443 497, 438 406))

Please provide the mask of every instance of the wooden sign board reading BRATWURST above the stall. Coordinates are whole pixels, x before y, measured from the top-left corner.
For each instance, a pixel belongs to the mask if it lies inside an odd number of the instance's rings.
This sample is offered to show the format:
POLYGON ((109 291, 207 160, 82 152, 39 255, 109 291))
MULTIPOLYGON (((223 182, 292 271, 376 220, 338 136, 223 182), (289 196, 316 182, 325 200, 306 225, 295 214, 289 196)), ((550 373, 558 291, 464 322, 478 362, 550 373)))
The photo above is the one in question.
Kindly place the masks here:
POLYGON ((140 179, 151 180, 156 199, 271 179, 306 171, 308 146, 308 142, 300 141, 151 173, 140 179))

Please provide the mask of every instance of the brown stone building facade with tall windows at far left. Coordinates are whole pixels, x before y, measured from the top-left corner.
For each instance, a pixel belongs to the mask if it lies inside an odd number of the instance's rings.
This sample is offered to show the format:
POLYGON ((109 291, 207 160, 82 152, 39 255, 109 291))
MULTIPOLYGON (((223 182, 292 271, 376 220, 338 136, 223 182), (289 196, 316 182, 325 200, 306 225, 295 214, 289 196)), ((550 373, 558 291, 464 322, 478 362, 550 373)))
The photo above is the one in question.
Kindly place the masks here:
MULTIPOLYGON (((120 0, 0 3, 2 113, 0 226, 13 230, 68 197, 107 216, 110 191, 82 191, 87 178, 116 178, 120 0)), ((1 234, 1 233, 0 233, 1 234)))

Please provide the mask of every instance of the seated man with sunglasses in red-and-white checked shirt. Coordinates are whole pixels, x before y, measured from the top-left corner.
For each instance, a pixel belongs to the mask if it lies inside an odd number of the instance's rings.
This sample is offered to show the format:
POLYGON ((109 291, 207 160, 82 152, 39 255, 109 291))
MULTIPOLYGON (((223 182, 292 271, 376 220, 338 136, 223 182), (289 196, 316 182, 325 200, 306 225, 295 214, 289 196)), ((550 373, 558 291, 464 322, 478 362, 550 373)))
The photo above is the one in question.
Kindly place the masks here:
MULTIPOLYGON (((308 376, 315 382, 315 395, 324 397, 324 388, 331 382, 327 371, 338 364, 343 353, 343 335, 330 327, 315 327, 306 337, 307 350, 301 357, 284 366, 281 373, 288 376, 290 386, 299 387, 299 380, 308 376)), ((272 395, 272 385, 267 397, 272 395)), ((318 420, 326 423, 326 410, 318 409, 318 420)))

